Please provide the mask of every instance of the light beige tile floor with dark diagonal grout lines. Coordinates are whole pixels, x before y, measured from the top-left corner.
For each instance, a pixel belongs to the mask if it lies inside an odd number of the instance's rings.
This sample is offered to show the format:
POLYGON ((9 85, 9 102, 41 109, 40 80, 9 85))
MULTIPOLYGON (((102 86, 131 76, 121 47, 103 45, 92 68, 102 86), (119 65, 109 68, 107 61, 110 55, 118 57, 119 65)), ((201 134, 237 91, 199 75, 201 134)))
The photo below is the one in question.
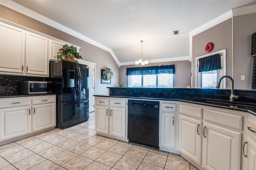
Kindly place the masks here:
POLYGON ((99 136, 89 121, 0 146, 1 170, 197 170, 182 156, 99 136))

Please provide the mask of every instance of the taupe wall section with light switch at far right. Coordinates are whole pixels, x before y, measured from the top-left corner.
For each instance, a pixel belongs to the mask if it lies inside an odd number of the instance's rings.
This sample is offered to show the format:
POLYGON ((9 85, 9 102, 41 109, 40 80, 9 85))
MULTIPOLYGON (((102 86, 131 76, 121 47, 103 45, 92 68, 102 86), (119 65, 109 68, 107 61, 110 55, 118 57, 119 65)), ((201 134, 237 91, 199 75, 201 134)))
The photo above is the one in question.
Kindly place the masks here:
POLYGON ((256 32, 256 13, 233 17, 233 57, 235 89, 252 89, 252 34, 256 32), (245 80, 241 80, 245 75, 245 80))

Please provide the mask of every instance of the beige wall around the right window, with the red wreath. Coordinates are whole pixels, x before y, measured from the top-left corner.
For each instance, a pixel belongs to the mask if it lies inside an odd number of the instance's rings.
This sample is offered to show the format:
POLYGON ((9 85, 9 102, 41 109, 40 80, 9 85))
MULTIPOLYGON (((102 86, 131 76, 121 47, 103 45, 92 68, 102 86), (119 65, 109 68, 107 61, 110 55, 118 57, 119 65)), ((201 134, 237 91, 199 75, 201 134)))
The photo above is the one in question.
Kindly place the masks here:
MULTIPOLYGON (((212 27, 192 39, 192 87, 195 87, 195 57, 207 54, 204 50, 208 42, 214 43, 212 52, 226 49, 226 75, 232 75, 232 18, 212 27)), ((227 80, 230 88, 230 80, 227 80)))

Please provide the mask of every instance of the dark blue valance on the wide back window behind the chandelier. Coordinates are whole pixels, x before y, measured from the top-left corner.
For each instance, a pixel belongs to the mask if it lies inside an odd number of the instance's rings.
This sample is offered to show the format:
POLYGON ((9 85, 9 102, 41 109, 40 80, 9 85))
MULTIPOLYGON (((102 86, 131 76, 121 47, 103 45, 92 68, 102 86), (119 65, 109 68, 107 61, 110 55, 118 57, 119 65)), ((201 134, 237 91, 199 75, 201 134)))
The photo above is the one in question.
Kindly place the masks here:
POLYGON ((132 67, 126 69, 126 75, 155 75, 155 74, 174 74, 174 65, 161 65, 151 67, 132 67))

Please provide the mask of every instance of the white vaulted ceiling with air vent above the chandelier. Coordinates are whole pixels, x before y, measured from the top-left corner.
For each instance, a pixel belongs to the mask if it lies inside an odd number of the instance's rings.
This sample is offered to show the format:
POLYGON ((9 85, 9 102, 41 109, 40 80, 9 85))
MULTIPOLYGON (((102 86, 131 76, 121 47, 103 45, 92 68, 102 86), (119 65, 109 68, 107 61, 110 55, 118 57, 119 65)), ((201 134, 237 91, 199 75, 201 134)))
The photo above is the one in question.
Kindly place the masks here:
POLYGON ((112 49, 121 65, 183 60, 189 33, 256 0, 13 0, 112 49), (173 31, 180 35, 174 36, 173 31))

